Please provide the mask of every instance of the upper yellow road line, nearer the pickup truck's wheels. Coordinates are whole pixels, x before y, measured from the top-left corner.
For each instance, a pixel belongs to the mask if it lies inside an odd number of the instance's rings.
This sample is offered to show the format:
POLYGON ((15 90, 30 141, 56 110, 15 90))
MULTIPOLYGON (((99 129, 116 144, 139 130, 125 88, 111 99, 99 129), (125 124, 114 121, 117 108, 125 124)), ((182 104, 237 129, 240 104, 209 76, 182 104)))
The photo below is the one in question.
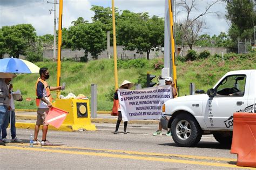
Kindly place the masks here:
MULTIPOLYGON (((24 146, 24 144, 8 144, 8 145, 24 146)), ((42 147, 38 145, 35 145, 35 146, 42 147)), ((59 148, 59 149, 80 149, 85 151, 103 151, 103 152, 110 152, 110 153, 126 153, 126 154, 133 154, 133 155, 148 155, 148 156, 158 156, 158 157, 176 157, 176 158, 182 158, 182 159, 237 161, 237 159, 232 159, 232 158, 202 157, 202 156, 196 156, 196 155, 164 154, 164 153, 153 153, 153 152, 124 151, 124 150, 115 150, 115 149, 96 149, 96 148, 72 147, 72 146, 43 146, 43 147, 59 148)))

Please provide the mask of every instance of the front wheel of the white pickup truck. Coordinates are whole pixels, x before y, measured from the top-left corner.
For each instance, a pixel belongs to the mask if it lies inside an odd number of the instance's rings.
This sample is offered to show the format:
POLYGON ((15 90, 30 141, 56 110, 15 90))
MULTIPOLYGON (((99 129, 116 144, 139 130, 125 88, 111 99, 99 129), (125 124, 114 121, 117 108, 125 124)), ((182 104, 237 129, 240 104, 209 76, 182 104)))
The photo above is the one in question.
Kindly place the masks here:
POLYGON ((202 130, 197 120, 190 114, 178 114, 171 124, 172 139, 181 147, 193 147, 202 137, 202 130))

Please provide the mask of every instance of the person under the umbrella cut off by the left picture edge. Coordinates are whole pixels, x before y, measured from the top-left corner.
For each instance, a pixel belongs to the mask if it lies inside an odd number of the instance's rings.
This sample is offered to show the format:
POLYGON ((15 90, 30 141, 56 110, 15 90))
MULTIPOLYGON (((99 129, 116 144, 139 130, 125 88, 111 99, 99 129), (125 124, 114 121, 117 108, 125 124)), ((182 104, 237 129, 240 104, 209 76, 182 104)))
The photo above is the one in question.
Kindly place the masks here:
POLYGON ((2 127, 11 99, 10 91, 5 82, 5 79, 0 79, 0 145, 5 145, 2 139, 2 127))

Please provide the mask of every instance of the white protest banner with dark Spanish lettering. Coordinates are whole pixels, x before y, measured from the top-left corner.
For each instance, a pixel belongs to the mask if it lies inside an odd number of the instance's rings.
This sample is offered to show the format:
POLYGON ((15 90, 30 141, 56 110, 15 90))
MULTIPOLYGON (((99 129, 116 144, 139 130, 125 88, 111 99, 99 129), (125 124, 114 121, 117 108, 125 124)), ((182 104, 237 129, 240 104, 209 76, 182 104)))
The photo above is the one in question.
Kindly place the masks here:
POLYGON ((123 121, 159 119, 165 101, 172 99, 170 85, 140 90, 118 89, 123 121))

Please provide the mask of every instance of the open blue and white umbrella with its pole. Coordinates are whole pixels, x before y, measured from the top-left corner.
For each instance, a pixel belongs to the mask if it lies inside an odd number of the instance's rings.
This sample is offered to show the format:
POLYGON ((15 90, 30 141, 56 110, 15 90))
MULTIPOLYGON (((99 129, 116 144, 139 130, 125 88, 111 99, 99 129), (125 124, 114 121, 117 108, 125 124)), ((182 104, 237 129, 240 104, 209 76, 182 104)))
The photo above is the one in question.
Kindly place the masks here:
MULTIPOLYGON (((27 60, 18 58, 4 58, 0 59, 0 72, 2 73, 39 73, 39 67, 27 60)), ((11 112, 11 111, 10 111, 11 112)), ((10 113, 11 126, 11 113, 10 113)), ((11 128, 10 128, 10 142, 11 142, 11 128)))

